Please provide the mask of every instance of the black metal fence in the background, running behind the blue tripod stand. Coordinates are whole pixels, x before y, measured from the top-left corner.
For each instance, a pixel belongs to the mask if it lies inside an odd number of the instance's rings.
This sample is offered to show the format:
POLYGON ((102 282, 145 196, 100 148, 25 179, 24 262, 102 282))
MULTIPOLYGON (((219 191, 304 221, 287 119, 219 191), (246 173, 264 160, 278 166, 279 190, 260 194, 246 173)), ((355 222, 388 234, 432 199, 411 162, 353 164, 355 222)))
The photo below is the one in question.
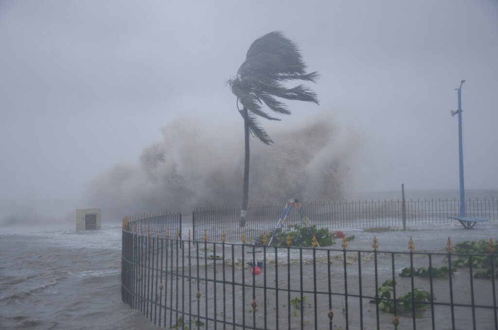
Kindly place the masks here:
MULTIPOLYGON (((460 215, 460 201, 456 199, 424 199, 405 201, 407 226, 445 224, 449 217, 460 215)), ((303 208, 313 225, 330 229, 373 228, 403 226, 403 202, 400 200, 305 203, 303 208)), ((485 217, 498 221, 498 200, 466 200, 467 216, 485 217)), ((246 227, 239 227, 241 209, 197 209, 192 213, 193 240, 220 239, 225 231, 227 240, 236 240, 244 231, 258 236, 275 229, 283 205, 249 207, 246 227)), ((302 224, 299 212, 292 211, 286 224, 302 224)))

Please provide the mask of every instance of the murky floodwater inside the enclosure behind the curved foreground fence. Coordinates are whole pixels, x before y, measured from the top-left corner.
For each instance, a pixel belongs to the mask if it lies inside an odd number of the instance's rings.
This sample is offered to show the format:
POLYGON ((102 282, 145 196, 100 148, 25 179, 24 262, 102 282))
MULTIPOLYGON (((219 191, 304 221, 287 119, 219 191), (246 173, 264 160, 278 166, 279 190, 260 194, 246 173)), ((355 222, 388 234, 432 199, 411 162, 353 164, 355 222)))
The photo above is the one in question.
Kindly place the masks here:
POLYGON ((207 320, 207 329, 222 327, 222 321, 235 324, 236 329, 242 329, 237 326, 242 324, 260 329, 346 329, 346 324, 349 329, 375 329, 378 320, 379 329, 393 329, 394 314, 378 311, 371 301, 376 288, 394 277, 396 297, 412 290, 427 291, 434 297, 433 304, 417 309, 415 318, 411 310, 398 312, 402 325, 399 329, 495 327, 495 310, 480 307, 496 306, 492 280, 473 278, 468 269, 458 269, 451 280, 443 276, 432 282, 421 277, 414 277, 412 282, 411 277, 400 277, 399 273, 410 266, 448 265, 448 238, 452 245, 482 239, 495 241, 497 225, 482 223, 466 230, 456 222, 406 231, 374 231, 345 231, 346 236, 355 236, 347 242, 346 251, 340 241, 315 251, 213 243, 191 243, 190 248, 187 245, 173 250, 163 259, 180 276, 165 273, 159 278, 159 282, 168 283, 164 294, 169 300, 163 300, 163 304, 173 310, 184 306, 185 314, 169 311, 162 322, 171 326, 180 317, 187 320, 188 315, 196 315, 207 320), (376 252, 372 248, 374 237, 376 252), (408 249, 410 238, 412 255, 408 249), (253 255, 264 262, 259 275, 252 275, 247 264, 253 255), (332 324, 330 310, 334 314, 332 324))

